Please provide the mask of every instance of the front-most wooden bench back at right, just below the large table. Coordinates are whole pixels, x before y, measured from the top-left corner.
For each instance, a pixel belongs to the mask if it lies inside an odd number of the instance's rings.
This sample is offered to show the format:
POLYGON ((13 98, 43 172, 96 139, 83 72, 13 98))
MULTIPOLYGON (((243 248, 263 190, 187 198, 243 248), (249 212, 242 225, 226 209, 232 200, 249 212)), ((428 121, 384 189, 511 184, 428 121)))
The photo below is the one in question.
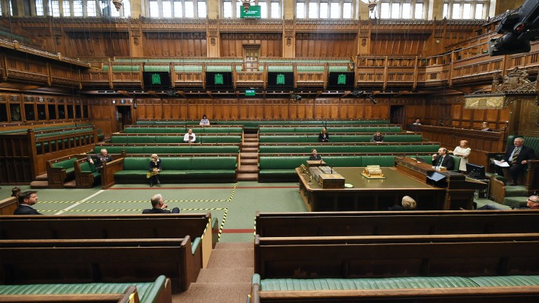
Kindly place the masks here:
POLYGON ((378 236, 539 232, 539 210, 257 213, 256 234, 378 236))

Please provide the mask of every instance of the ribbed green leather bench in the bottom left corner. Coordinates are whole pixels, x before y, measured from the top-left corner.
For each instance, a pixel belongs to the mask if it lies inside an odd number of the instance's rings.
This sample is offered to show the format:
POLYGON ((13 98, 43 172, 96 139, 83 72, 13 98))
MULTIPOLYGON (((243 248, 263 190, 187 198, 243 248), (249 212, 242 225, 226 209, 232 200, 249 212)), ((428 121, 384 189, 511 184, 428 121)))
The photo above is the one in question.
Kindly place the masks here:
MULTIPOLYGON (((159 276, 154 282, 137 283, 0 285, 0 301, 3 301, 3 298, 7 296, 17 296, 20 302, 27 302, 25 301, 26 297, 36 295, 39 295, 41 299, 47 299, 51 295, 83 295, 79 297, 79 299, 82 299, 83 297, 91 297, 90 295, 121 294, 134 285, 140 303, 166 303, 171 298, 170 284, 171 282, 166 276, 159 276)), ((64 300, 71 301, 72 299, 65 297, 64 300)))

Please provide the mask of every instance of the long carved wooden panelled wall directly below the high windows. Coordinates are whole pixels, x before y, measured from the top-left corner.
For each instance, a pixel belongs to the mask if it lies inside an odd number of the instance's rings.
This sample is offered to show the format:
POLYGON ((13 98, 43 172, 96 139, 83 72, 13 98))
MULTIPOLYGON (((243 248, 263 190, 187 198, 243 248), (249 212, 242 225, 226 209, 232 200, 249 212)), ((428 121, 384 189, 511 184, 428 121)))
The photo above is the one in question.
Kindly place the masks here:
POLYGON ((355 57, 356 55, 431 56, 452 50, 459 43, 484 32, 481 24, 390 20, 349 22, 178 20, 79 18, 18 18, 10 28, 27 36, 36 47, 72 58, 205 57, 208 44, 218 46, 213 55, 243 57, 243 46, 260 45, 261 57, 355 57), (251 27, 253 27, 251 30, 251 27), (248 30, 246 30, 248 29, 248 30), (286 39, 283 39, 286 35, 286 39), (210 37, 211 36, 211 39, 210 37), (286 42, 284 42, 284 40, 286 42), (283 45, 286 43, 286 46, 283 45), (293 43, 293 53, 283 49, 293 43), (130 45, 131 44, 131 45, 130 45))

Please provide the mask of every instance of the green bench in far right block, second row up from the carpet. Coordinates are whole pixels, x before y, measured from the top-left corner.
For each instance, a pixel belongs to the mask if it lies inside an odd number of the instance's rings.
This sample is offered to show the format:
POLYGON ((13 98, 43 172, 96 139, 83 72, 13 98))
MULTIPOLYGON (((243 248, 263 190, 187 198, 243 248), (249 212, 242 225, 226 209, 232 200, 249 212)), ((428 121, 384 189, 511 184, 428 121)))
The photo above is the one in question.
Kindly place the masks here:
MULTIPOLYGON (((367 145, 261 145, 258 152, 262 154, 275 153, 310 153, 312 149, 317 149, 319 154, 331 153, 379 153, 379 152, 403 152, 403 153, 422 153, 438 152, 439 144, 367 144, 367 145)), ((423 156, 425 158, 425 156, 423 156)))

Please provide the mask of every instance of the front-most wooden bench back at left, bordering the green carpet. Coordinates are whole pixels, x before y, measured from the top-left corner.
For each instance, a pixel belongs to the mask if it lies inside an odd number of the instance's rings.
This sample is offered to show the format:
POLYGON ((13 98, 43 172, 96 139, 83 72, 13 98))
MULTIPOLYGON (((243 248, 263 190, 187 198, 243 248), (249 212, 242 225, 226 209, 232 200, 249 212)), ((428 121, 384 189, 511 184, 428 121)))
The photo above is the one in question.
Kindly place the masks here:
POLYGON ((0 217, 0 239, 196 238, 204 233, 209 220, 209 213, 11 215, 0 217))

